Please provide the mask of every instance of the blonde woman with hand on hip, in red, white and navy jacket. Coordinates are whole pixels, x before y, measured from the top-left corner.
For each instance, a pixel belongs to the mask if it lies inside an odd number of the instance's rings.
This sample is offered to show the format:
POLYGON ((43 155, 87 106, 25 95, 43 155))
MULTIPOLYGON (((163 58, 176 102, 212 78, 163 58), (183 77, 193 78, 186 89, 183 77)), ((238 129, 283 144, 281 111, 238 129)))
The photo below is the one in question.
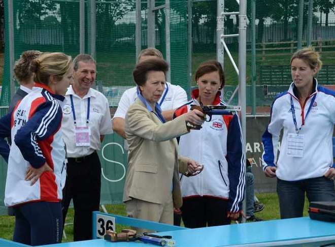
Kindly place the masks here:
POLYGON ((72 59, 44 53, 31 69, 32 91, 0 119, 0 153, 8 159, 5 205, 15 213, 13 240, 41 245, 61 242, 66 170, 61 109, 73 76, 72 59))

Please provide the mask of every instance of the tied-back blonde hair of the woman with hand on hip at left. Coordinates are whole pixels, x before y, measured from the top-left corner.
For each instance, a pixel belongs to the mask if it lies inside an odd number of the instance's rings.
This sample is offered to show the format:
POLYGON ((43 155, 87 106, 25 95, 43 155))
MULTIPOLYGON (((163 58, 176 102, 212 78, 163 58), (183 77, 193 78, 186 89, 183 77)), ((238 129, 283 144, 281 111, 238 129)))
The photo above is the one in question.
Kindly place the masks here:
POLYGON ((49 84, 49 77, 55 76, 61 80, 66 72, 72 67, 72 58, 62 52, 45 52, 31 61, 31 72, 35 73, 35 81, 49 84))

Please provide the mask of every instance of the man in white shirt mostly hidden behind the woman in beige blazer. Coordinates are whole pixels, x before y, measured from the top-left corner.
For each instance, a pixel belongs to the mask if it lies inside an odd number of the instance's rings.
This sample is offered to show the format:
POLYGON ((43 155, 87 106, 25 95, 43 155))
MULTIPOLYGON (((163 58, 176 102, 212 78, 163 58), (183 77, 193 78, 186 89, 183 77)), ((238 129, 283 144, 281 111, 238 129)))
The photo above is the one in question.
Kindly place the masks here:
MULTIPOLYGON (((152 58, 153 56, 163 58, 162 53, 155 48, 147 48, 139 54, 138 61, 152 58)), ((116 112, 113 116, 113 130, 125 139, 124 125, 125 115, 130 105, 137 99, 137 87, 132 87, 124 91, 116 112)), ((166 121, 172 120, 175 109, 187 103, 186 91, 181 86, 172 85, 170 82, 165 83, 165 89, 158 104, 162 109, 162 115, 166 121)), ((126 146, 126 142, 125 142, 126 146)))

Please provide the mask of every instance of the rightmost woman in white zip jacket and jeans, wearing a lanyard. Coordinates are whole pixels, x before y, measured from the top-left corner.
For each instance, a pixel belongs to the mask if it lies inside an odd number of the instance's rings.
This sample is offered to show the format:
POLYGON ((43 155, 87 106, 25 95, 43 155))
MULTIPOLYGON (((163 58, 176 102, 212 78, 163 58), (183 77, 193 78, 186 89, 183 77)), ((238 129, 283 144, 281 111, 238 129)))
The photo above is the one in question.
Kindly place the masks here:
POLYGON ((271 122, 262 137, 263 170, 266 176, 277 177, 282 219, 303 216, 305 193, 310 202, 335 201, 335 93, 319 86, 314 78, 321 65, 319 54, 312 48, 293 54, 293 82, 274 101, 271 122))

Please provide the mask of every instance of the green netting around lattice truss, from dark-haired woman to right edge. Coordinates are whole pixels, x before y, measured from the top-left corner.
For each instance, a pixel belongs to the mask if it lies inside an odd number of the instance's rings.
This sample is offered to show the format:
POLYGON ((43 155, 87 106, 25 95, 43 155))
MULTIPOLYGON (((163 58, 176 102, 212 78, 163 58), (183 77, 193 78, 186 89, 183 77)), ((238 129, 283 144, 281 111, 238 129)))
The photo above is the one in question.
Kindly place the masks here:
MULTIPOLYGON (((252 106, 251 71, 251 5, 247 1, 247 105, 252 106)), ((290 57, 297 49, 298 0, 255 0, 256 13, 256 97, 258 113, 269 113, 269 105, 278 92, 288 88, 291 82, 290 57), (265 108, 263 108, 265 106, 265 108), (267 107, 266 107, 267 106, 267 107)), ((303 47, 308 34, 308 2, 305 1, 303 20, 303 47)), ((225 12, 239 11, 237 1, 224 1, 225 12)), ((335 89, 335 2, 314 0, 312 45, 320 52, 323 68, 318 74, 319 83, 335 89)), ((216 59, 217 1, 192 2, 192 85, 194 72, 204 60, 216 59)), ((239 32, 239 18, 228 15, 224 19, 224 34, 239 32)), ((238 38, 225 38, 225 43, 238 65, 238 38)), ((237 73, 225 53, 224 71, 226 85, 224 98, 228 100, 235 85, 237 73)), ((232 103, 238 102, 238 94, 232 103)), ((250 109, 248 109, 250 112, 250 109)))

